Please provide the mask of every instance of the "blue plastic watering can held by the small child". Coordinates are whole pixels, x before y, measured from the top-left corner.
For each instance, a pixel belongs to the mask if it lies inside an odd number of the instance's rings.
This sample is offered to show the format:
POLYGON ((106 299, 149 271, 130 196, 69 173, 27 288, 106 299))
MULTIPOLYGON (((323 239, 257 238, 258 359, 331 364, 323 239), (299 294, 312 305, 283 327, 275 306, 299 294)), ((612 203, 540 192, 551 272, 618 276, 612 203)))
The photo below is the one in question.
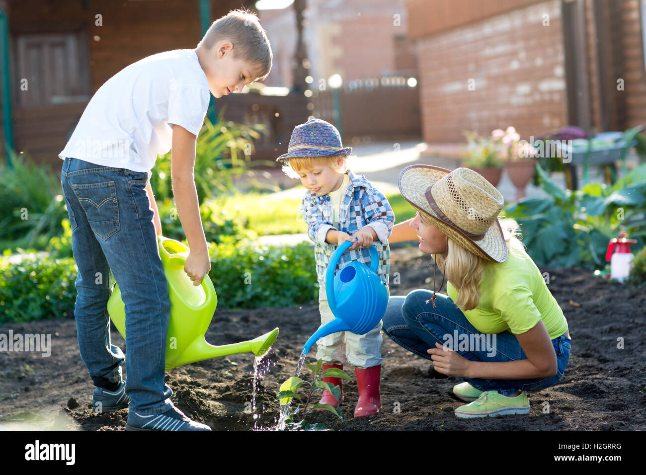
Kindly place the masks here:
POLYGON ((303 346, 307 354, 312 345, 322 337, 336 332, 363 335, 379 323, 388 305, 388 290, 377 275, 379 255, 375 246, 370 247, 370 268, 357 260, 350 262, 335 276, 341 255, 353 242, 344 241, 329 260, 326 273, 326 294, 329 308, 335 319, 326 323, 303 346))

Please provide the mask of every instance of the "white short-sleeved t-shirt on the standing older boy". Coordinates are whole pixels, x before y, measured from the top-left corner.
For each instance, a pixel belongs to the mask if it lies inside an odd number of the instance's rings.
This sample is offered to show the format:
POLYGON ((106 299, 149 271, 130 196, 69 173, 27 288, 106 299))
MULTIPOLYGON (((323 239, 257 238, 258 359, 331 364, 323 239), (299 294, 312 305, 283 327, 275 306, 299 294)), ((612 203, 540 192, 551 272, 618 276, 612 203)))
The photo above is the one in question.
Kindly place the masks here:
POLYGON ((171 149, 170 124, 197 135, 211 92, 194 50, 154 54, 108 79, 88 103, 59 157, 151 170, 171 149))

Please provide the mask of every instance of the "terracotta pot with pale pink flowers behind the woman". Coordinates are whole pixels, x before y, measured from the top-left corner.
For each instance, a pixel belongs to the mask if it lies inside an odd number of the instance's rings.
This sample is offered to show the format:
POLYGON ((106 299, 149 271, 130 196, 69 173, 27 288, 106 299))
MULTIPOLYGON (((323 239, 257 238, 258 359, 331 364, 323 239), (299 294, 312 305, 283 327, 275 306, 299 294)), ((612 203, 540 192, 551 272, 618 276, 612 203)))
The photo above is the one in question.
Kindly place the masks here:
POLYGON ((506 131, 495 129, 492 136, 499 137, 505 148, 505 171, 516 187, 515 200, 525 198, 525 187, 534 176, 536 170, 536 149, 530 143, 519 144, 520 135, 514 127, 507 127, 506 131))

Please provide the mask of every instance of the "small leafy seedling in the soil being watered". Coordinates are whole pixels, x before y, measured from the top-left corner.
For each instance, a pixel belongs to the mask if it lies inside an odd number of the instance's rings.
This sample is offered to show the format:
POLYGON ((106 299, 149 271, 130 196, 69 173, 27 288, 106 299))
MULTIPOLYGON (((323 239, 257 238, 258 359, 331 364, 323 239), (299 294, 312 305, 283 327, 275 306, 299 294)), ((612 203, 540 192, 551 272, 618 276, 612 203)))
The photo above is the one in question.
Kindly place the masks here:
POLYGON ((306 363, 307 368, 311 370, 313 374, 313 379, 312 381, 305 381, 304 379, 300 379, 298 376, 292 376, 287 381, 285 381, 280 387, 281 388, 289 388, 287 390, 281 390, 276 394, 276 397, 280 400, 280 404, 282 406, 287 405, 291 403, 291 399, 297 399, 298 400, 298 405, 295 408, 293 412, 290 412, 289 415, 287 416, 285 420, 285 427, 289 430, 326 430, 325 426, 322 423, 317 423, 314 425, 309 425, 305 423, 305 419, 309 414, 312 414, 315 410, 318 409, 323 409, 323 410, 328 410, 329 412, 333 412, 336 414, 339 419, 343 420, 343 416, 341 414, 341 410, 339 408, 335 408, 332 405, 329 404, 320 404, 317 403, 309 410, 309 404, 312 400, 312 397, 315 396, 315 392, 318 390, 328 390, 332 396, 339 401, 339 397, 341 396, 341 388, 337 385, 331 385, 329 383, 326 383, 326 381, 323 381, 324 377, 337 377, 341 379, 349 379, 351 380, 352 378, 349 377, 343 370, 340 370, 339 368, 328 368, 324 372, 321 372, 323 365, 322 360, 318 360, 316 364, 310 364, 306 363), (307 390, 299 394, 298 389, 302 386, 305 385, 307 387, 307 390))

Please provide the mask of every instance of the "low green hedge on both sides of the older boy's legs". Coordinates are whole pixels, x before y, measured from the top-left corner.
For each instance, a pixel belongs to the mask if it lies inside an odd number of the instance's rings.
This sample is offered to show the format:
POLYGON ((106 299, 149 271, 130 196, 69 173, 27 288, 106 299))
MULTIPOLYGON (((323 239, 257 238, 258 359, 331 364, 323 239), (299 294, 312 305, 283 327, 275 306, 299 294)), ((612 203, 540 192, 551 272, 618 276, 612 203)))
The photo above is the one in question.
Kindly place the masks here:
MULTIPOLYGON (((209 277, 219 308, 289 307, 316 301, 314 253, 306 243, 276 248, 231 237, 223 240, 209 249, 209 277)), ((74 310, 74 259, 33 253, 12 264, 5 256, 0 257, 0 272, 0 324, 65 318, 74 310)))

